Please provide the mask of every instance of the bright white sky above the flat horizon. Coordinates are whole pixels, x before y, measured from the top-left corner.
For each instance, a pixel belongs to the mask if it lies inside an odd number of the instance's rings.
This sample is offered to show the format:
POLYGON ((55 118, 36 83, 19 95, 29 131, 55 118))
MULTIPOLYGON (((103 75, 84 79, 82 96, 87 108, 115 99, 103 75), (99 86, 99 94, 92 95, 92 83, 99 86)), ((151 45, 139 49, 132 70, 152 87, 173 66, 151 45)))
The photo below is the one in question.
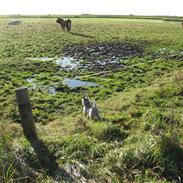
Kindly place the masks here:
POLYGON ((183 16, 183 0, 0 0, 0 15, 7 14, 183 16))

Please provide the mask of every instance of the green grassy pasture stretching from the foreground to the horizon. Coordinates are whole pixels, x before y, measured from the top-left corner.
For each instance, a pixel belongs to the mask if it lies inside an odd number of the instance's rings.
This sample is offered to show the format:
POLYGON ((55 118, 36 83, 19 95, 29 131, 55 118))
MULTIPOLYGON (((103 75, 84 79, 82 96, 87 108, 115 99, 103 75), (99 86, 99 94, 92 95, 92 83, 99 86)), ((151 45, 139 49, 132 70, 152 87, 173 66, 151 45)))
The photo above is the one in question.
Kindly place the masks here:
POLYGON ((183 181, 180 22, 73 18, 67 33, 55 18, 8 25, 14 20, 0 18, 0 182, 64 182, 23 136, 15 101, 22 86, 39 137, 60 167, 74 169, 75 182, 183 181), (82 114, 84 94, 102 122, 82 114))

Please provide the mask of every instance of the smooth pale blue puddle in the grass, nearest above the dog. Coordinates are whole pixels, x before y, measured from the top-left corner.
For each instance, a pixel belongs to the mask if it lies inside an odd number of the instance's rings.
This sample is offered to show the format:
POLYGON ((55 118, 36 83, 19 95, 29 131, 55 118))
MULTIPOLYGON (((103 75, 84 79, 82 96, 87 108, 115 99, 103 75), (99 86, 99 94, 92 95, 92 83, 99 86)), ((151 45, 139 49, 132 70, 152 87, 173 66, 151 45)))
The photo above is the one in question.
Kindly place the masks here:
POLYGON ((76 80, 76 79, 69 79, 69 78, 64 78, 62 81, 63 85, 67 85, 70 88, 76 88, 76 87, 90 87, 90 86, 99 86, 98 84, 94 82, 87 82, 87 81, 81 81, 81 80, 76 80))

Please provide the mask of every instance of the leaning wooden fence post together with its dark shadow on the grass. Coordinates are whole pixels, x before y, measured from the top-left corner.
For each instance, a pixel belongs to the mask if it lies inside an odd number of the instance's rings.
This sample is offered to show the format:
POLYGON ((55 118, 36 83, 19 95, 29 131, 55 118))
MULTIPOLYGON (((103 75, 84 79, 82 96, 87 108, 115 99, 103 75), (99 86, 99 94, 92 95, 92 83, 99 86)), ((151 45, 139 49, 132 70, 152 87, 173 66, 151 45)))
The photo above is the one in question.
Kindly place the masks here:
POLYGON ((60 171, 60 176, 63 180, 67 178, 70 182, 74 182, 70 174, 68 174, 64 169, 59 168, 55 155, 49 151, 44 142, 37 136, 32 115, 32 107, 29 101, 28 89, 18 88, 15 92, 24 135, 33 147, 41 166, 51 176, 55 176, 55 172, 60 171))

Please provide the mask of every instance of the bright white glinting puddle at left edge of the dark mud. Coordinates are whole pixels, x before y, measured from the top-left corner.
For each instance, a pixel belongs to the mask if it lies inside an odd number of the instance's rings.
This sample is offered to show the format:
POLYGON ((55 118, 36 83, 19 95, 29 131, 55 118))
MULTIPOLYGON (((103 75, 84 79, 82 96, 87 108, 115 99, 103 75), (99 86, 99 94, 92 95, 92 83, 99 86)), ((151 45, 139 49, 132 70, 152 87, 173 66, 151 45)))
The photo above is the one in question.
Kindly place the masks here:
POLYGON ((58 58, 55 63, 61 68, 74 69, 78 66, 78 62, 72 57, 61 57, 58 58))

